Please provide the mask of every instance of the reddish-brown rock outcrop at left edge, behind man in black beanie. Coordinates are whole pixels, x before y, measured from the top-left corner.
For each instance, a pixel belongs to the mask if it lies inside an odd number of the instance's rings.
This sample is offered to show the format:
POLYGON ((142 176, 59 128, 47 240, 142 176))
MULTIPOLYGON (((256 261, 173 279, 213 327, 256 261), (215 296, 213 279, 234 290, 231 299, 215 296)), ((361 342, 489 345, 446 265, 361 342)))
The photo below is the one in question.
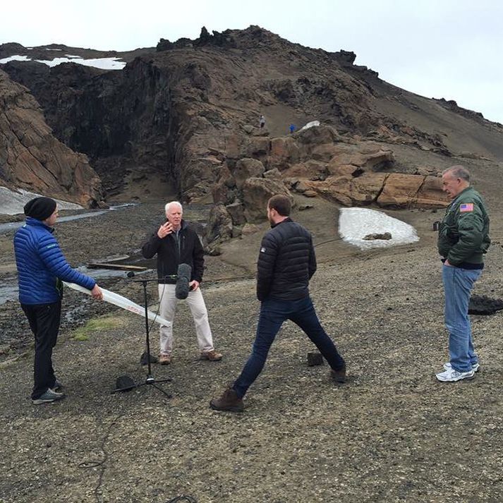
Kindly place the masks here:
POLYGON ((102 204, 87 157, 54 138, 30 92, 1 70, 0 184, 88 207, 102 204))

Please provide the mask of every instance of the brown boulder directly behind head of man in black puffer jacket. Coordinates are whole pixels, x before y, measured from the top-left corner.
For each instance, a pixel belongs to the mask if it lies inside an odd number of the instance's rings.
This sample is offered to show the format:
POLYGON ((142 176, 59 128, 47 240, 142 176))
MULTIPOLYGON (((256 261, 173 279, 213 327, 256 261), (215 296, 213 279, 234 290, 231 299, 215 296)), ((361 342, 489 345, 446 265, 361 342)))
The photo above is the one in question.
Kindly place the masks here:
POLYGON ((267 217, 267 201, 273 195, 284 194, 293 204, 293 196, 283 183, 267 178, 248 178, 243 183, 243 202, 248 222, 261 222, 267 217))

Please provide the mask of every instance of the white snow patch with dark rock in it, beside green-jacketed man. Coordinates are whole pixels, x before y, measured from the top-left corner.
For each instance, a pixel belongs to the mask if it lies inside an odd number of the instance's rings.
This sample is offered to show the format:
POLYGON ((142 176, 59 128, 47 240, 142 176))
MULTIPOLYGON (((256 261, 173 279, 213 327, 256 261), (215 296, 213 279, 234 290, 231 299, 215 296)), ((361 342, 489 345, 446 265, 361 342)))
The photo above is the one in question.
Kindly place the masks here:
POLYGON ((366 208, 341 208, 339 211, 339 235, 343 241, 358 246, 361 250, 386 248, 419 241, 413 226, 389 217, 383 212, 366 208), (368 234, 383 234, 384 232, 391 233, 392 238, 374 241, 363 239, 368 234))

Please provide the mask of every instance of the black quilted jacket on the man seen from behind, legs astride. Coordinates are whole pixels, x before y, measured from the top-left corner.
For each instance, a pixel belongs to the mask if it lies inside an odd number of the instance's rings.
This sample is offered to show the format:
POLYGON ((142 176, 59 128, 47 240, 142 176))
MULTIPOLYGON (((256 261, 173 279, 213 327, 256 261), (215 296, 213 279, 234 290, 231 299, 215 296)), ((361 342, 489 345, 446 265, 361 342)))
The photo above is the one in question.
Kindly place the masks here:
POLYGON ((287 218, 262 238, 257 262, 257 298, 293 301, 308 296, 309 280, 315 271, 310 232, 287 218))

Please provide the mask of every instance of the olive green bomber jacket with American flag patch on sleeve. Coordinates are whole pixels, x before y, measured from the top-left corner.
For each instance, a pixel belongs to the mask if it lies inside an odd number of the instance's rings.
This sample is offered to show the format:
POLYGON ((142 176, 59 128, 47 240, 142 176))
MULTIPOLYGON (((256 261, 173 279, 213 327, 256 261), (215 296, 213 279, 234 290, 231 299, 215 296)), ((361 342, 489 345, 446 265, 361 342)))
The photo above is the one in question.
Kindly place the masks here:
POLYGON ((469 186, 447 207, 439 228, 438 252, 457 267, 481 264, 490 243, 484 200, 469 186))

